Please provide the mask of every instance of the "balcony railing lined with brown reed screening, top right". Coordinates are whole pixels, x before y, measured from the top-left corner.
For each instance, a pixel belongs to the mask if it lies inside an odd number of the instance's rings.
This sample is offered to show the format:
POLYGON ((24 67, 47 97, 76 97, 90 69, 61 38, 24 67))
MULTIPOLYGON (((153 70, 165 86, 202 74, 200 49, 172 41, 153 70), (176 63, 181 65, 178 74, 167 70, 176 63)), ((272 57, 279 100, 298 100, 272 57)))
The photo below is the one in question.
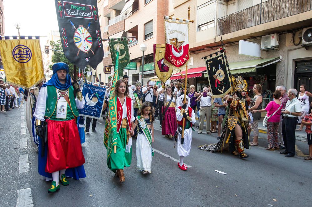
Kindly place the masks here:
POLYGON ((218 36, 312 10, 312 0, 269 0, 217 20, 218 36))

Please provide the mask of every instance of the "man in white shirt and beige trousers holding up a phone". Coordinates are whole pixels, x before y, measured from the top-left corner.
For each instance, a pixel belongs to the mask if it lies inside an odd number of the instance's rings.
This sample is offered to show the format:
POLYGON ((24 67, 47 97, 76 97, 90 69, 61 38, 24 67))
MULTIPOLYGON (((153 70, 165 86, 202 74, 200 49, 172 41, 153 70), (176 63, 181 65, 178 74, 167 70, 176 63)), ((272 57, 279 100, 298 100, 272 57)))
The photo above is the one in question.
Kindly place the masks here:
POLYGON ((207 87, 204 87, 202 90, 203 92, 197 98, 197 101, 200 101, 198 134, 202 133, 202 130, 204 128, 205 117, 206 117, 206 132, 207 134, 211 134, 209 130, 211 117, 211 95, 208 93, 207 87))

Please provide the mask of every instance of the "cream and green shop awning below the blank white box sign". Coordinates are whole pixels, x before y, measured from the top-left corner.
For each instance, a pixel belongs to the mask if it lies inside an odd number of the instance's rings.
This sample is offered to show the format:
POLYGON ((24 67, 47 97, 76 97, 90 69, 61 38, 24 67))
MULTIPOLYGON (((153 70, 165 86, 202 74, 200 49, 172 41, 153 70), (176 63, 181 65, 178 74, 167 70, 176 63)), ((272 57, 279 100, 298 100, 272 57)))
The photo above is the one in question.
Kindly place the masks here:
POLYGON ((248 60, 229 63, 231 74, 256 72, 256 68, 266 67, 282 60, 282 57, 248 60))

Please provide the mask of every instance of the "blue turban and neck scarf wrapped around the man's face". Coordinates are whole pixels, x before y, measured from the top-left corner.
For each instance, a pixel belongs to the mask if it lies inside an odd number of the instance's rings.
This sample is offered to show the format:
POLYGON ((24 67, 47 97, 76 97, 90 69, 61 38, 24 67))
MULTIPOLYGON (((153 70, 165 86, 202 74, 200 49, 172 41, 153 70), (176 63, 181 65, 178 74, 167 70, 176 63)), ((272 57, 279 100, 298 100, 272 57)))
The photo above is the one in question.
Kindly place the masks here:
POLYGON ((69 67, 66 63, 64 63, 64 62, 55 63, 52 66, 52 70, 53 70, 53 76, 51 77, 51 79, 49 81, 44 83, 42 87, 55 86, 57 89, 66 90, 67 88, 69 88, 72 85, 71 76, 69 75, 69 67), (62 84, 60 82, 60 80, 58 79, 56 71, 59 71, 59 70, 66 70, 66 72, 67 72, 65 84, 62 84))

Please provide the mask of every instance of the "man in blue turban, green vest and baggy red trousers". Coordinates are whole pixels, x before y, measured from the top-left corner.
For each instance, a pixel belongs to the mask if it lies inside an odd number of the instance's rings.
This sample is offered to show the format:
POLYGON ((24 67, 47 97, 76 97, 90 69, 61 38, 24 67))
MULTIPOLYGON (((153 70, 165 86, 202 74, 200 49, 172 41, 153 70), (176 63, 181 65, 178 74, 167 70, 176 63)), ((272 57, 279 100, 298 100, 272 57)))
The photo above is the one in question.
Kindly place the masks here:
POLYGON ((52 177, 48 193, 60 189, 59 181, 62 185, 69 185, 66 180, 68 173, 75 179, 85 177, 83 169, 85 158, 76 124, 76 118, 79 116, 78 109, 84 107, 85 100, 77 81, 71 80, 66 63, 56 63, 52 66, 52 70, 53 76, 43 84, 39 92, 34 113, 36 133, 42 138, 39 143, 38 171, 41 175, 52 177), (42 156, 46 156, 46 159, 42 156), (43 170, 40 165, 44 161, 46 164, 43 170), (76 170, 68 172, 66 169, 76 170))

